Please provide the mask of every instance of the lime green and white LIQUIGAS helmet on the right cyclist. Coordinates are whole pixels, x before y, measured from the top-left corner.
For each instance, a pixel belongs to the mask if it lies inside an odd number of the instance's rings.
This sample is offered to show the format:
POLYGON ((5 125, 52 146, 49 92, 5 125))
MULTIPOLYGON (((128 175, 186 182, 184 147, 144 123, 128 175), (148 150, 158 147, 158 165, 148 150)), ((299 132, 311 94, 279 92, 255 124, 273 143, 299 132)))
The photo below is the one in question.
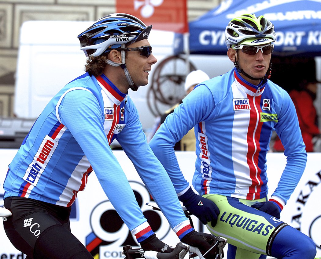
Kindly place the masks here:
POLYGON ((263 15, 243 14, 232 19, 225 29, 227 48, 232 45, 261 45, 275 41, 274 25, 263 15))

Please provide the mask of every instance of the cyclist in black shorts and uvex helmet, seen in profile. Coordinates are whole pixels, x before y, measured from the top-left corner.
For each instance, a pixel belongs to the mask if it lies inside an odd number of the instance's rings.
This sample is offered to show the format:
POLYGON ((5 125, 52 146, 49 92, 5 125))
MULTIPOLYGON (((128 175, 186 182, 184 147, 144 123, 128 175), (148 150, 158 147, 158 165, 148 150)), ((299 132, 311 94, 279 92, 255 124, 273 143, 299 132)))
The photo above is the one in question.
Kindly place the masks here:
MULTIPOLYGON (((129 88, 136 91, 147 85, 151 66, 157 61, 148 42, 151 29, 132 15, 115 13, 97 20, 78 36, 88 57, 86 73, 68 83, 41 112, 4 181, 4 206, 12 212, 4 229, 28 258, 93 258, 70 232, 69 223, 71 205, 93 170, 141 247, 171 251, 144 218, 109 147, 114 139, 179 239, 203 252, 211 247, 213 236, 195 232, 185 217, 128 96, 129 88), (32 231, 31 223, 39 231, 32 231)), ((215 255, 213 250, 207 258, 215 255)))

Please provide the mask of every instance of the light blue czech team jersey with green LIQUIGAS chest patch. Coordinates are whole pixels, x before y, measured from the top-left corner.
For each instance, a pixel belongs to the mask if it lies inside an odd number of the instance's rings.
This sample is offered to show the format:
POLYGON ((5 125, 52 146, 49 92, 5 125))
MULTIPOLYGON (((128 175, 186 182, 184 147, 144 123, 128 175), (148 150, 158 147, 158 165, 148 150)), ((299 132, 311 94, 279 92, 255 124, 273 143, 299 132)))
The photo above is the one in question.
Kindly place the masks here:
POLYGON ((275 130, 284 144, 287 165, 271 198, 285 205, 307 161, 295 108, 286 91, 266 79, 252 85, 236 69, 197 85, 149 143, 178 196, 189 183, 180 171, 173 146, 193 127, 195 190, 201 195, 249 200, 267 196, 266 153, 275 130))

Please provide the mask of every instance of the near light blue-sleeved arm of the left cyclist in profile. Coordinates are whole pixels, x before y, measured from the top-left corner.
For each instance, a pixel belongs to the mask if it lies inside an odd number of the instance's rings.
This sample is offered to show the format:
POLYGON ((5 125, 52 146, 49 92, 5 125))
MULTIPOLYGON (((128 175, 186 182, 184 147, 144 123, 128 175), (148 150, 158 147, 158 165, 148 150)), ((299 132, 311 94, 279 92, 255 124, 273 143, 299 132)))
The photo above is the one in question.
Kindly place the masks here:
POLYGON ((126 175, 110 149, 95 96, 84 90, 65 95, 59 116, 78 142, 120 217, 130 230, 146 222, 126 175), (121 193, 120 193, 121 188, 121 193))

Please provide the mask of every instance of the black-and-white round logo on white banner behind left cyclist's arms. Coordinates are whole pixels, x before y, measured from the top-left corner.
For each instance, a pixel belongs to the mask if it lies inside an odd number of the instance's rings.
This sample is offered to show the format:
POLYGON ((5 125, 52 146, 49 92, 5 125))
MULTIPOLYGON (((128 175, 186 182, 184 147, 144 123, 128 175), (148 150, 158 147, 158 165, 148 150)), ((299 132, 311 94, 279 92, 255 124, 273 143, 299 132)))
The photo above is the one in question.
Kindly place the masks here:
MULTIPOLYGON (((139 182, 129 182, 138 205, 159 239, 170 231, 167 219, 160 211, 152 210, 146 203, 151 196, 146 187, 139 182)), ((121 193, 119 194, 121 195, 121 193)), ((129 208, 128 208, 129 209, 129 208)), ((92 232, 86 236, 86 248, 96 259, 124 258, 121 254, 123 246, 139 247, 136 238, 120 218, 109 200, 97 204, 90 215, 92 232)))

